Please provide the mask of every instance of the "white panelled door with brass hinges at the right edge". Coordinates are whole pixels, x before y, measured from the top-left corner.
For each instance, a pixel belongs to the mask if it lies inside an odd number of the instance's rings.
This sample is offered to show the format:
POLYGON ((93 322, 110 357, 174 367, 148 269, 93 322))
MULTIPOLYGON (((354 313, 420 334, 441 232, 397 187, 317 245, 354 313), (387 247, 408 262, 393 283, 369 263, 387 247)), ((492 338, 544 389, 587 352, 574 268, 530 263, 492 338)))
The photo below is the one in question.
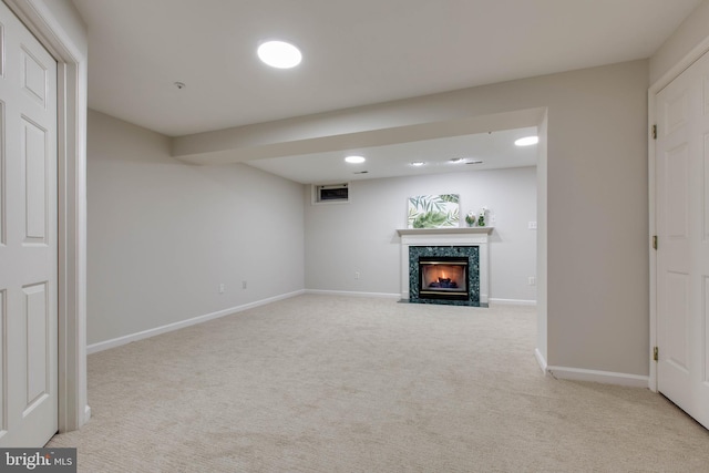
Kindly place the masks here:
POLYGON ((656 106, 657 383, 709 428, 709 54, 656 106))

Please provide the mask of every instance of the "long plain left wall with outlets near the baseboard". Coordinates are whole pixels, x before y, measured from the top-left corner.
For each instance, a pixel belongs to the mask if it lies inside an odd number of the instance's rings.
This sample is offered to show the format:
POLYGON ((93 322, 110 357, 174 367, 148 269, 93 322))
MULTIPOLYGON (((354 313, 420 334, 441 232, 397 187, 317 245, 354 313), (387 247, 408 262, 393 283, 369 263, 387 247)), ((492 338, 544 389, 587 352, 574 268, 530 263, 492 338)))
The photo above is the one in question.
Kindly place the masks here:
POLYGON ((302 185, 94 111, 88 156, 90 345, 304 288, 302 185))

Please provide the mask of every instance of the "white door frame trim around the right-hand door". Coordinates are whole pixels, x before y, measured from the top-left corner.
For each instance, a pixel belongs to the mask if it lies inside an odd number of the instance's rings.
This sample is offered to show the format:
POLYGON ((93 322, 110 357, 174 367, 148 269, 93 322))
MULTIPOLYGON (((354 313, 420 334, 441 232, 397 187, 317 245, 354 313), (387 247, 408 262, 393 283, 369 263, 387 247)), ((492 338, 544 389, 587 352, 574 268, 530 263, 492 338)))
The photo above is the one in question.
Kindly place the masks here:
MULTIPOLYGON (((700 43, 691 49, 682 59, 680 59, 675 65, 672 65, 665 74, 660 76, 648 89, 647 101, 647 121, 648 121, 648 192, 649 192, 649 235, 648 235, 648 248, 650 256, 650 346, 648 360, 650 363, 648 388, 653 392, 657 392, 657 362, 653 358, 654 348, 657 347, 657 251, 653 249, 653 236, 657 235, 657 206, 655 205, 655 198, 657 196, 655 166, 657 160, 655 156, 655 138, 653 138, 653 125, 655 122, 656 113, 656 100, 657 94, 669 85, 675 79, 685 72, 690 65, 697 62, 702 55, 709 52, 709 37, 705 38, 700 43)), ((661 245, 662 241, 659 241, 661 245)))

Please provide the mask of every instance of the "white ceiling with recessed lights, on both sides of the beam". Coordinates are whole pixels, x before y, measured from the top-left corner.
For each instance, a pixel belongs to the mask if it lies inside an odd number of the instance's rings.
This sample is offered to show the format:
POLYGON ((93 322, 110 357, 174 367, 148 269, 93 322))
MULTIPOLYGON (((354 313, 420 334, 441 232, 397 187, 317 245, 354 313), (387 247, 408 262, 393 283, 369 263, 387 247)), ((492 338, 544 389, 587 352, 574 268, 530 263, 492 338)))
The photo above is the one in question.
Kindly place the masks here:
MULTIPOLYGON (((167 136, 644 59, 701 3, 73 1, 89 28, 89 106, 167 136), (302 63, 292 70, 261 64, 256 48, 269 39, 296 43, 302 63), (186 86, 177 89, 175 82, 186 86)), ((384 150, 366 150, 370 173, 354 177, 411 173, 414 153, 430 163, 481 154, 493 166, 495 150, 504 146, 487 143, 477 150, 491 137, 469 138, 393 145, 386 162, 384 150)), ((506 158, 497 156, 502 165, 506 158)), ((350 179, 352 171, 342 168, 341 160, 323 154, 248 164, 297 182, 350 179)), ((441 169, 450 167, 430 165, 415 173, 441 169)))

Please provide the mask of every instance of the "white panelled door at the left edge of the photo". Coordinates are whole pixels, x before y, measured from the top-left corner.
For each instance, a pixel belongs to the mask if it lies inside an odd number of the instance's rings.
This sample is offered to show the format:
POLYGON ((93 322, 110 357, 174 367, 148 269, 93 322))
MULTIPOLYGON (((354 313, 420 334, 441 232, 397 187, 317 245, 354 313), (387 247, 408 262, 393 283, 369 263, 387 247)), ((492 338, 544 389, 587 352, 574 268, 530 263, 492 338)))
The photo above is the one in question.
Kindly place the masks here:
POLYGON ((56 62, 0 2, 0 446, 58 425, 56 62))

